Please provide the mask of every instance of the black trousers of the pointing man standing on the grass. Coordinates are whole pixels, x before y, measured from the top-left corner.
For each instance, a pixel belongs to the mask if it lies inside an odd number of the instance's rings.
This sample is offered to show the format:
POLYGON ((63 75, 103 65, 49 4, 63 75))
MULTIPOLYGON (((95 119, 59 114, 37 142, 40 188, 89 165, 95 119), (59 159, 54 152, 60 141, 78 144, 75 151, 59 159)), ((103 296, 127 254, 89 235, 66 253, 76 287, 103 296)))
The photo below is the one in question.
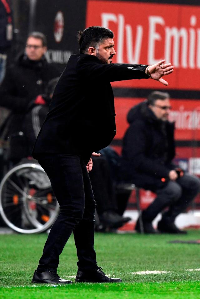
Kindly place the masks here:
POLYGON ((78 268, 97 270, 94 251, 96 204, 83 159, 67 154, 41 154, 37 159, 46 171, 60 205, 60 213, 50 230, 38 268, 57 269, 59 255, 73 232, 78 268))

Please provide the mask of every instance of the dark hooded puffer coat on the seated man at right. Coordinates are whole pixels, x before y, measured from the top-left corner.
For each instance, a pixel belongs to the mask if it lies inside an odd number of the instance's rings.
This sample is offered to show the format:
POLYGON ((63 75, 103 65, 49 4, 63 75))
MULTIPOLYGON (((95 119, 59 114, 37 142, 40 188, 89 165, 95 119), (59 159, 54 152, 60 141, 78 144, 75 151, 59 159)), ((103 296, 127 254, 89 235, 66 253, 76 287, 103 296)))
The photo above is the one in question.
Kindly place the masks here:
POLYGON ((146 102, 133 107, 130 127, 123 138, 123 169, 127 178, 145 189, 156 190, 174 169, 174 123, 161 121, 146 102))

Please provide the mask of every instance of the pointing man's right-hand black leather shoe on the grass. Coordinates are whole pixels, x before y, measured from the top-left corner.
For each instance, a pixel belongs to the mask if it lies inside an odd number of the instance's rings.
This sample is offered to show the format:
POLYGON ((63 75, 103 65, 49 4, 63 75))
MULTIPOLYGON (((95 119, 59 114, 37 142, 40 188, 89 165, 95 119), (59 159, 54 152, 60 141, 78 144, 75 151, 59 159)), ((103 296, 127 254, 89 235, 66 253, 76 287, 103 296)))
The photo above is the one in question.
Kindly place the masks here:
POLYGON ((120 278, 110 278, 101 268, 96 271, 83 272, 78 270, 75 282, 122 282, 120 278))

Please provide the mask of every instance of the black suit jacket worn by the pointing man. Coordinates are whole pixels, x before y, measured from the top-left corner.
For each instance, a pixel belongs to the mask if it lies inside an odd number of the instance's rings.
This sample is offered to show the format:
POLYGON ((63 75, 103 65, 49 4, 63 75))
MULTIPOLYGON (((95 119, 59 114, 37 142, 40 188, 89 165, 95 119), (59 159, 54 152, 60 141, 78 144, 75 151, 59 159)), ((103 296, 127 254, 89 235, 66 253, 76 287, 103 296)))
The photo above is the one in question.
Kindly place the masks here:
POLYGON ((103 64, 96 56, 72 55, 58 81, 33 148, 38 153, 91 153, 116 134, 111 81, 148 78, 147 65, 103 64))

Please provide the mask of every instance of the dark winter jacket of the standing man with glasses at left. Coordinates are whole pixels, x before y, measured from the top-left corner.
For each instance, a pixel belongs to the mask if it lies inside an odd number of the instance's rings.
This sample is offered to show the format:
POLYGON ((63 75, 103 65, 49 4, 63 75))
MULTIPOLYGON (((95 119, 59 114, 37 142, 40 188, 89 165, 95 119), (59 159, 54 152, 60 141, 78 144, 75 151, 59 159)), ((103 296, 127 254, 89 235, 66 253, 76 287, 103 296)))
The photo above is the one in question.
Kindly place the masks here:
MULTIPOLYGON (((11 110, 7 119, 7 137, 22 131, 22 122, 29 104, 38 94, 43 94, 48 81, 60 76, 60 72, 43 57, 39 61, 29 60, 22 54, 16 63, 7 69, 0 86, 0 106, 11 110)), ((10 158, 18 158, 17 146, 11 149, 10 158)), ((21 158, 21 157, 19 157, 21 158)))

